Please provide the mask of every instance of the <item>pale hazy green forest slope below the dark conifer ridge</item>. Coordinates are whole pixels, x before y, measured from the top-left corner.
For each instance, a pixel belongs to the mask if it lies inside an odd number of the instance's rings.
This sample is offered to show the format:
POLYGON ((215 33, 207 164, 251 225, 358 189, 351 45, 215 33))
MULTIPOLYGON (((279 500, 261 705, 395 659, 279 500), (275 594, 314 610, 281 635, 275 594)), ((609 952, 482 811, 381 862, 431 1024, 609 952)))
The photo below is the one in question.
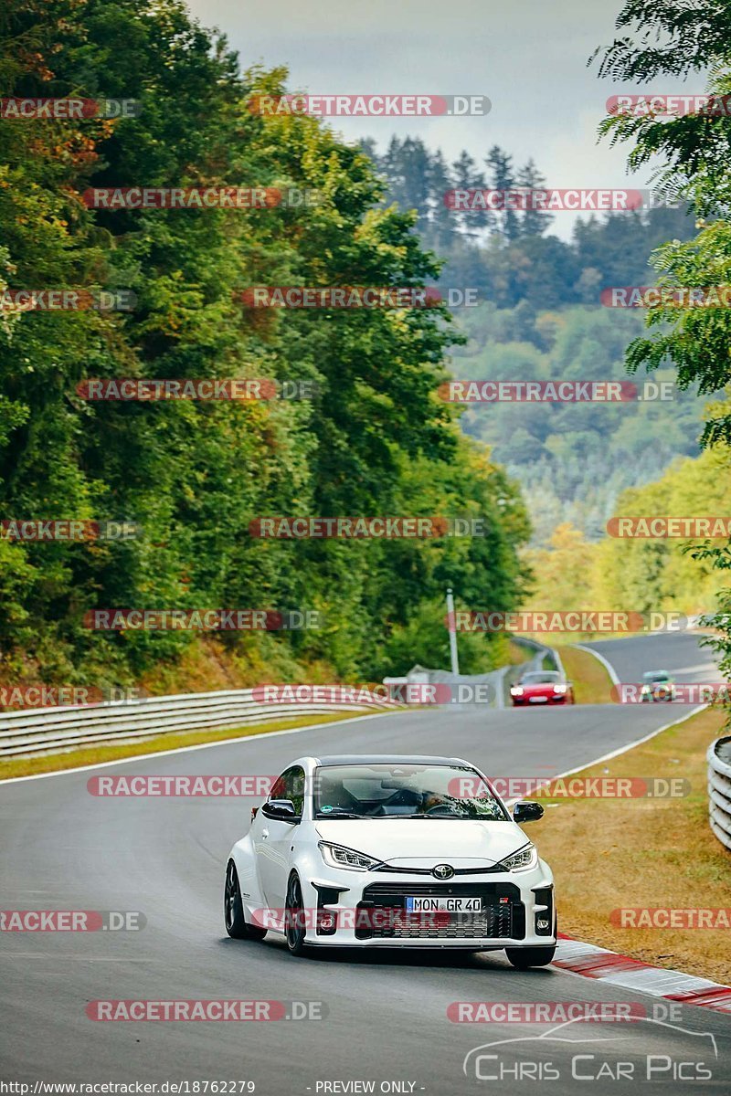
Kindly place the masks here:
MULTIPOLYGON (((486 305, 465 310, 460 323, 469 343, 452 369, 465 379, 627 381, 625 349, 642 330, 636 312, 579 305, 533 315, 529 306, 486 305)), ((640 395, 647 379, 637 378, 640 395)), ((671 398, 468 406, 462 427, 521 483, 534 545, 567 521, 598 538, 621 491, 656 479, 678 456, 697 456, 703 400, 695 388, 681 391, 667 365, 652 381, 669 383, 671 398)))

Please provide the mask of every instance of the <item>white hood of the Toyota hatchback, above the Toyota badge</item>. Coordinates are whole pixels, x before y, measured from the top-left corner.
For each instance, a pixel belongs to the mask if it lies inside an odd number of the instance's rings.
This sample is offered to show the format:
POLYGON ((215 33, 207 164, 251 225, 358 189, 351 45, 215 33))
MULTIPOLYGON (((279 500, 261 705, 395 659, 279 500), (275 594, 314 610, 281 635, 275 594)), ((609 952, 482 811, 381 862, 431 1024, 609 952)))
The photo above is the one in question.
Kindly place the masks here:
POLYGON ((345 845, 397 866, 430 867, 447 863, 459 867, 462 860, 496 864, 529 841, 521 827, 510 821, 318 819, 315 827, 323 841, 345 845))

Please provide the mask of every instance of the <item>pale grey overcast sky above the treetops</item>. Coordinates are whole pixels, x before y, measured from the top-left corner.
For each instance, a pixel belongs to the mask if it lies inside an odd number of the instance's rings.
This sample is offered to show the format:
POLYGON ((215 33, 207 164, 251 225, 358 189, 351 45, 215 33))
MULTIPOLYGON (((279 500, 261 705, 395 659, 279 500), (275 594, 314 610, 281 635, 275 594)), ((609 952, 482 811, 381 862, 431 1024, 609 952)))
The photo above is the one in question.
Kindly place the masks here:
MULTIPOLYGON (((549 186, 633 186, 626 148, 596 142, 610 94, 703 92, 663 79, 649 88, 598 80, 586 60, 612 42, 621 0, 189 0, 218 26, 245 68, 286 65, 290 89, 311 93, 483 94, 486 117, 333 118, 347 139, 369 136, 382 150, 393 133, 420 136, 449 160, 462 148, 478 161, 494 144, 517 164, 533 156, 549 186)), ((696 83, 698 87, 696 87, 696 83)), ((572 214, 551 231, 567 236, 572 214)))

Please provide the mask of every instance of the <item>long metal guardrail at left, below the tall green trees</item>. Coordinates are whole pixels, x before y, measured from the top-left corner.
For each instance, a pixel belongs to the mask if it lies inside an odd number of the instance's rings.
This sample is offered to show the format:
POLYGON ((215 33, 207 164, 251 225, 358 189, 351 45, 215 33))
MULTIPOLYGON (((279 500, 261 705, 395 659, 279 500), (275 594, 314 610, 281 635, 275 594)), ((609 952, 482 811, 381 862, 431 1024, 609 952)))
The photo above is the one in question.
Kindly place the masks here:
POLYGON ((94 742, 169 734, 173 731, 225 730, 296 716, 333 711, 387 711, 400 705, 384 697, 351 703, 263 704, 253 689, 183 693, 89 707, 44 708, 0 713, 0 758, 72 750, 94 742))

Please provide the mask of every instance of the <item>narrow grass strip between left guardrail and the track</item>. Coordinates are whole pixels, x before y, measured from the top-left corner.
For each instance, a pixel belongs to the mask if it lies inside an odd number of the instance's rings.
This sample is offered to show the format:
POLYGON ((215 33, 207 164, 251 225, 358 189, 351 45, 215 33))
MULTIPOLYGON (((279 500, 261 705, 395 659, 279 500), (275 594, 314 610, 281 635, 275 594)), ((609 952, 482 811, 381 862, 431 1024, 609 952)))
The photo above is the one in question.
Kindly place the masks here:
POLYGON ((310 727, 315 723, 334 723, 343 719, 352 719, 357 712, 333 712, 332 716, 300 716, 297 719, 272 720, 267 723, 252 723, 229 730, 187 731, 180 734, 156 734, 149 739, 133 739, 127 742, 107 743, 81 746, 68 753, 44 754, 43 757, 13 757, 0 761, 0 781, 13 776, 36 776, 38 773, 60 773, 66 768, 77 768, 81 765, 101 765, 105 761, 123 761, 127 757, 144 757, 146 754, 159 751, 180 750, 181 746, 195 746, 205 742, 226 742, 228 739, 240 739, 253 734, 264 734, 267 731, 289 731, 297 727, 310 727))

